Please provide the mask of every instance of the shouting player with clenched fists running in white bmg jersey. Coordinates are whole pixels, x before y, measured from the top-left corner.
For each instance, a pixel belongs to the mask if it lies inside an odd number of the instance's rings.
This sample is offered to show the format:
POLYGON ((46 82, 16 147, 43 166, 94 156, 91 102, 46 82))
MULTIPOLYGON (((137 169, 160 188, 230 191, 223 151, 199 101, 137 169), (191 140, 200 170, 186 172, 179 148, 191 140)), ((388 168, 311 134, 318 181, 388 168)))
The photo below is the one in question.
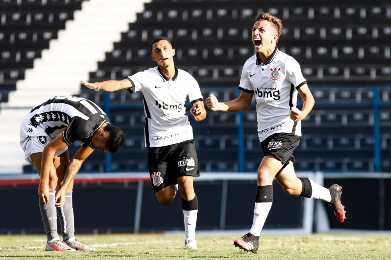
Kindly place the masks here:
POLYGON ((273 202, 273 179, 276 178, 288 194, 323 199, 334 209, 339 222, 345 219, 340 202, 341 188, 333 184, 328 189, 308 178, 297 178, 292 155, 301 139, 301 120, 314 106, 300 65, 291 56, 278 50, 276 44, 282 32, 281 21, 268 13, 255 18, 251 38, 256 54, 243 66, 239 98, 218 102, 210 94, 206 105, 213 111, 239 112, 248 110, 253 96, 256 100, 258 137, 264 157, 258 168, 253 225, 235 246, 256 253, 258 240, 273 202), (303 108, 296 108, 297 94, 303 98, 303 108))

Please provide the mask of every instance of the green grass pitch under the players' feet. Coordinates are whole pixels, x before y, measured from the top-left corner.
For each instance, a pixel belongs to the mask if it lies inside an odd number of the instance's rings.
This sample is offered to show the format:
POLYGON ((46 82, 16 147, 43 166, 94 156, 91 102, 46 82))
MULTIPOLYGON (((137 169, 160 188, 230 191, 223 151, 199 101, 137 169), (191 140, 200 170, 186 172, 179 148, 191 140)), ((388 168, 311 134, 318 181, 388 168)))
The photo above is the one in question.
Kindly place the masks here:
POLYGON ((0 235, 0 260, 225 260, 391 259, 391 235, 261 235, 258 255, 233 246, 240 235, 197 236, 198 250, 182 249, 183 236, 161 234, 78 235, 97 251, 46 252, 45 235, 0 235))

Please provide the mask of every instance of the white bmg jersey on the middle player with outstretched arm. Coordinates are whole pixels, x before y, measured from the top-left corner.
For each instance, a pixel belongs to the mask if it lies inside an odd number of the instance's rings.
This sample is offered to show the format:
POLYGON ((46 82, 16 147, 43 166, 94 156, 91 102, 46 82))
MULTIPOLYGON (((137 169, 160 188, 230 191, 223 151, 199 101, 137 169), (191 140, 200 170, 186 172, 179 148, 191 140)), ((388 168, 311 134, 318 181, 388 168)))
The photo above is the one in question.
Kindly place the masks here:
POLYGON ((190 103, 202 101, 197 81, 176 68, 174 78, 167 78, 158 66, 127 77, 130 93, 141 91, 145 112, 145 146, 160 147, 193 139, 193 128, 186 113, 190 103))

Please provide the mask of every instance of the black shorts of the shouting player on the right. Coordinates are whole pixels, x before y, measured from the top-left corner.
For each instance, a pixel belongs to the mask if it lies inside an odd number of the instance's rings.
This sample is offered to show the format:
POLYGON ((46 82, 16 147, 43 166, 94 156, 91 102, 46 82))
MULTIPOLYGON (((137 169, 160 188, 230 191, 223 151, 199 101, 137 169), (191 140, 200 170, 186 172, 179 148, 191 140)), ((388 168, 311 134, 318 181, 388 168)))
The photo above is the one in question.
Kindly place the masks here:
POLYGON ((295 162, 292 155, 294 148, 300 143, 301 136, 286 133, 277 133, 267 137, 261 142, 264 156, 272 154, 283 164, 295 162))

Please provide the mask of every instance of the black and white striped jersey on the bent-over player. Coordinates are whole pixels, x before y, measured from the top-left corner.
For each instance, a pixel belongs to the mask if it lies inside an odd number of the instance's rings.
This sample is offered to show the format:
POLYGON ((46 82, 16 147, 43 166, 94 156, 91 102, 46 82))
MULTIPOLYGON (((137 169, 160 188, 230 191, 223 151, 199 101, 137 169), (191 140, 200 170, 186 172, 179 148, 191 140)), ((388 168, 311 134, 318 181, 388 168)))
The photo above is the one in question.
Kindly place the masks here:
POLYGON ((43 128, 53 139, 63 133, 66 144, 79 141, 81 146, 90 145, 96 130, 110 123, 105 112, 95 103, 75 96, 56 96, 30 111, 30 122, 35 128, 43 128))

